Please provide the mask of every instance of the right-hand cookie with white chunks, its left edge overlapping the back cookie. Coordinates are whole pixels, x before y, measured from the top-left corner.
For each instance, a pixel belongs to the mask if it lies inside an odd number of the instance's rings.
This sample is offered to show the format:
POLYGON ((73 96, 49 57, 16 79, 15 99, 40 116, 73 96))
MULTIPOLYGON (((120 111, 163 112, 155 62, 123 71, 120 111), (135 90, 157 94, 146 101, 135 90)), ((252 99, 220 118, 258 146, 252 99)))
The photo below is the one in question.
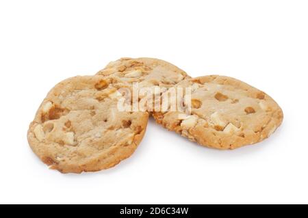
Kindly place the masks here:
MULTIPOLYGON (((187 79, 190 113, 155 112, 157 123, 210 148, 235 149, 269 137, 281 125, 283 111, 268 94, 222 76, 187 79)), ((186 96, 187 98, 187 96, 186 96)))

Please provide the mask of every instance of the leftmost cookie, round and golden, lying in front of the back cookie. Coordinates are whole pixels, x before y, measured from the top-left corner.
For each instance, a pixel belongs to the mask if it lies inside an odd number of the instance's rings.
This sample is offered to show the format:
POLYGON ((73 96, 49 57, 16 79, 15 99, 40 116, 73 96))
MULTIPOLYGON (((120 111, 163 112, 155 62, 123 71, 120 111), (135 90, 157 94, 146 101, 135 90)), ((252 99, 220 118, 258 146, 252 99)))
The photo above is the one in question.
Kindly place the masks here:
POLYGON ((73 77, 58 83, 40 105, 29 145, 51 169, 95 172, 127 159, 146 131, 149 114, 118 110, 112 77, 73 77))

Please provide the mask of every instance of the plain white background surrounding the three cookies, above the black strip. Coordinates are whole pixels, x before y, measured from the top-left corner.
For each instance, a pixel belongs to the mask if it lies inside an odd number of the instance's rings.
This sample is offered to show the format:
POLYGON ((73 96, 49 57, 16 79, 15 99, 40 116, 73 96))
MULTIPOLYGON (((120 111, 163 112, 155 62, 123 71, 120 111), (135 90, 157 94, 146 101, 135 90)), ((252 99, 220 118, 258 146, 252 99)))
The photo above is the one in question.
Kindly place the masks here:
POLYGON ((1 1, 0 203, 308 203, 307 1, 1 1), (270 94, 270 139, 204 148, 151 119, 136 152, 103 172, 60 174, 27 128, 55 83, 120 57, 156 57, 270 94))

